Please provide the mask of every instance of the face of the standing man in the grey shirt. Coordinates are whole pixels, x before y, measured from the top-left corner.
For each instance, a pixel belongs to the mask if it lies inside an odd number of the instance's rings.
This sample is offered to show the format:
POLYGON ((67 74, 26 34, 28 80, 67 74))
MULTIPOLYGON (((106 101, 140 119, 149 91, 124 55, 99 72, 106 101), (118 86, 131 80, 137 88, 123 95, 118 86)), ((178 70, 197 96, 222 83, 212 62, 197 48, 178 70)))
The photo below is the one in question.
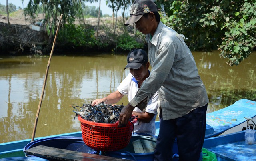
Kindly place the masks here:
POLYGON ((152 31, 152 21, 148 14, 147 17, 142 16, 140 20, 135 22, 135 27, 144 35, 151 33, 152 31))

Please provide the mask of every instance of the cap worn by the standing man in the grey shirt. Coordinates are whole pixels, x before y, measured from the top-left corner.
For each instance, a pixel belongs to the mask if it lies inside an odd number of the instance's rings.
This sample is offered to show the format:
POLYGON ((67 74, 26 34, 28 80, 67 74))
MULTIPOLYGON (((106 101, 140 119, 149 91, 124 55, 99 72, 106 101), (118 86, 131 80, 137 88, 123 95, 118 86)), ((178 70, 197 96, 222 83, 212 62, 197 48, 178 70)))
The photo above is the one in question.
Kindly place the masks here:
POLYGON ((130 18, 124 25, 134 24, 140 20, 143 14, 156 11, 157 7, 153 0, 134 0, 130 8, 130 18))

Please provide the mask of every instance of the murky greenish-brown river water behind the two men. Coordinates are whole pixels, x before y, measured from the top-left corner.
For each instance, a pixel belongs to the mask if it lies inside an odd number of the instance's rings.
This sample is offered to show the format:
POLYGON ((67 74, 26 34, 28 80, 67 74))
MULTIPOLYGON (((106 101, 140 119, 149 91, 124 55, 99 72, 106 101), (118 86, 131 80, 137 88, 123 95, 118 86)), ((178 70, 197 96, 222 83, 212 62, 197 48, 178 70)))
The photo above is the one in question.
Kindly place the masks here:
MULTIPOLYGON (((80 131, 71 105, 90 104, 116 90, 129 70, 128 53, 52 56, 35 137, 80 131)), ((238 66, 219 52, 193 52, 208 92, 208 111, 256 99, 256 53, 238 66)), ((0 57, 0 143, 31 139, 49 57, 0 57)), ((117 104, 128 103, 123 97, 117 104)))

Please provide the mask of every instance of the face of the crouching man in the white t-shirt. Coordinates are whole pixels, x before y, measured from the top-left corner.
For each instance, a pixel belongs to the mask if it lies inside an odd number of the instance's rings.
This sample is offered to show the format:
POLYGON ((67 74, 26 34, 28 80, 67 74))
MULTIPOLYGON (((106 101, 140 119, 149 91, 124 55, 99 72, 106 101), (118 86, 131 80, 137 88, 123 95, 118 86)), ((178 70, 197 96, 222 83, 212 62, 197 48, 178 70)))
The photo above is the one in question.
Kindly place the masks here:
POLYGON ((148 67, 149 62, 146 64, 146 66, 142 65, 138 69, 130 69, 130 73, 137 81, 144 81, 148 77, 148 67))

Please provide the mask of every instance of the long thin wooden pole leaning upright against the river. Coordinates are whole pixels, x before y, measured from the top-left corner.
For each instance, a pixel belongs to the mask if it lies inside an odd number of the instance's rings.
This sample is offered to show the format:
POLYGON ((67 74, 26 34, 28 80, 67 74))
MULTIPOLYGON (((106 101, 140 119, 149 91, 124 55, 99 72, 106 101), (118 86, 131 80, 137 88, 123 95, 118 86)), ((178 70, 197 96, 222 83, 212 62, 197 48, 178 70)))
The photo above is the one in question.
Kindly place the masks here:
POLYGON ((42 89, 42 93, 41 93, 41 97, 40 97, 40 101, 39 101, 39 105, 38 105, 38 109, 37 109, 37 113, 36 113, 36 119, 35 119, 35 123, 34 123, 34 129, 33 129, 33 134, 32 134, 31 142, 34 141, 34 138, 35 138, 36 125, 37 125, 37 121, 38 121, 38 117, 39 117, 40 108, 41 108, 41 105, 42 105, 42 99, 44 97, 44 89, 45 89, 45 85, 46 85, 46 81, 47 81, 48 70, 49 70, 49 67, 50 67, 52 53, 53 53, 55 42, 56 42, 56 38, 57 38, 57 35, 58 35, 58 30, 59 30, 61 19, 62 19, 62 14, 60 15, 60 20, 59 20, 58 27, 57 27, 56 34, 55 34, 55 38, 54 38, 54 41, 53 41, 53 44, 52 44, 52 51, 51 51, 51 54, 50 54, 50 57, 49 57, 49 60, 48 60, 48 64, 47 64, 47 68, 46 68, 43 89, 42 89))

